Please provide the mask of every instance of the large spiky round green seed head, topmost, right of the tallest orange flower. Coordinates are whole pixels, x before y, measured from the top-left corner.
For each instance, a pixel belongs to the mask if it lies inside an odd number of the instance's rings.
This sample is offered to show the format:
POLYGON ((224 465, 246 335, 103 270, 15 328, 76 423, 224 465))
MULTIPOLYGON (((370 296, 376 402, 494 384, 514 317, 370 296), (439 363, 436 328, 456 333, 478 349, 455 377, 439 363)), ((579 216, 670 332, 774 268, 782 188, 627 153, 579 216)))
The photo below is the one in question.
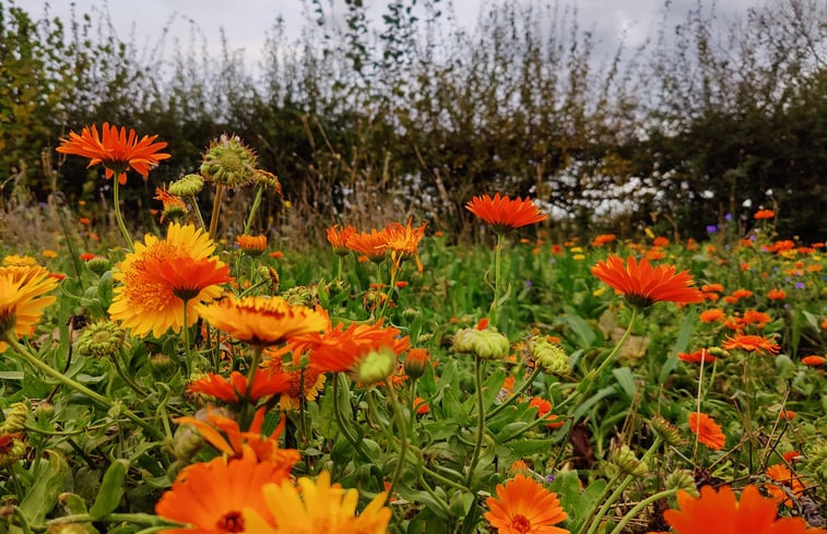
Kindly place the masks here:
POLYGON ((201 174, 229 188, 245 186, 256 175, 258 156, 237 135, 223 134, 210 143, 201 164, 201 174))

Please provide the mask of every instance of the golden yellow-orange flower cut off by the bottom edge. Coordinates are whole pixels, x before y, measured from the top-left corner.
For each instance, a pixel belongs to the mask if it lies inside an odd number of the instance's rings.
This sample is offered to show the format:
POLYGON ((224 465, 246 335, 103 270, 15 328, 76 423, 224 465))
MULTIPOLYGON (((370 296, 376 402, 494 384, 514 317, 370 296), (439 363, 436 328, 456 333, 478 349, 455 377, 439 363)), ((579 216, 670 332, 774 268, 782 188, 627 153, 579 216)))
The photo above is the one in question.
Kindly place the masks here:
POLYGON ((268 514, 258 508, 244 510, 247 533, 256 534, 385 534, 390 521, 390 508, 385 507, 381 493, 356 514, 359 496, 355 489, 344 489, 330 483, 330 473, 322 471, 316 482, 298 479, 298 487, 287 480, 268 484, 263 489, 268 514), (270 518, 275 518, 273 522, 270 518))

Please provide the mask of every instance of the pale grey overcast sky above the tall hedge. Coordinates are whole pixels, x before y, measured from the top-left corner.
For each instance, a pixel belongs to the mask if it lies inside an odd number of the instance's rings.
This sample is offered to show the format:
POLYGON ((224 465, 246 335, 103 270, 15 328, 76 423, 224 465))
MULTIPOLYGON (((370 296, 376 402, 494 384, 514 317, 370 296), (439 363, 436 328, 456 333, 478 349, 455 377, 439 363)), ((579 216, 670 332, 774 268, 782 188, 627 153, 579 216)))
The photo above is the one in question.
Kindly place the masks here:
MULTIPOLYGON (((520 0, 511 0, 520 1, 520 0)), ((672 0, 669 24, 682 21, 686 11, 697 0, 672 0)), ((763 5, 768 0, 705 0, 723 22, 741 16, 746 9, 763 5)), ((779 0, 769 0, 779 1, 779 0)), ((331 0, 321 0, 329 8, 331 0)), ((211 54, 221 50, 220 36, 223 28, 232 49, 244 49, 245 57, 255 63, 261 56, 265 33, 273 26, 277 16, 285 20, 287 37, 298 38, 306 23, 305 2, 302 0, 17 0, 17 5, 25 8, 33 15, 40 15, 45 4, 49 4, 52 16, 69 20, 71 4, 79 13, 101 12, 108 4, 113 24, 121 40, 134 36, 140 50, 151 49, 161 35, 161 29, 172 23, 170 31, 182 39, 189 35, 189 20, 203 32, 210 44, 211 54)), ((378 16, 387 2, 365 0, 378 16)), ((629 47, 642 44, 647 36, 654 36, 655 25, 661 21, 664 0, 559 0, 562 5, 574 3, 579 11, 581 28, 593 28, 599 41, 606 50, 614 50, 622 35, 629 47)), ((333 0, 333 5, 341 7, 343 0, 333 0)), ((481 8, 491 1, 481 0, 441 0, 446 10, 453 7, 458 24, 472 28, 481 8)), ((335 10, 333 10, 335 11, 335 10)))

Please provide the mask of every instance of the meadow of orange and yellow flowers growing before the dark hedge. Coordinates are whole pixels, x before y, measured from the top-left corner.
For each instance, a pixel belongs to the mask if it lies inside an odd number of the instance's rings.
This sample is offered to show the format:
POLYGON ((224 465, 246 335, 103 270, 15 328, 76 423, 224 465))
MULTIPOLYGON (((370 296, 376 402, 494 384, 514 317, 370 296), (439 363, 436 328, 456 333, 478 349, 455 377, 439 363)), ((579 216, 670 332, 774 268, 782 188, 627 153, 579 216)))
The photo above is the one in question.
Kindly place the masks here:
POLYGON ((770 210, 556 242, 482 191, 476 245, 344 221, 274 250, 279 180, 224 135, 139 239, 119 187, 166 143, 57 150, 101 166, 120 236, 2 259, 3 532, 827 532, 824 244, 770 210))

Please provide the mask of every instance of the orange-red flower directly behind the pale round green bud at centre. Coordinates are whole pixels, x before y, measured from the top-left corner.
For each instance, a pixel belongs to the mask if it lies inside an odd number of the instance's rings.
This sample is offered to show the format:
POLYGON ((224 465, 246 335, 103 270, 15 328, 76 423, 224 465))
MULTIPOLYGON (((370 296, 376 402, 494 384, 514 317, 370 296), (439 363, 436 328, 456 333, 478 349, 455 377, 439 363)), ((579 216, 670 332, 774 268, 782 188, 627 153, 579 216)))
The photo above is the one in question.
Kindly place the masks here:
POLYGON ((400 331, 376 324, 340 323, 324 333, 311 333, 291 343, 294 357, 310 352, 310 366, 322 372, 353 370, 369 353, 390 348, 394 354, 407 349, 407 336, 399 337, 400 331))

